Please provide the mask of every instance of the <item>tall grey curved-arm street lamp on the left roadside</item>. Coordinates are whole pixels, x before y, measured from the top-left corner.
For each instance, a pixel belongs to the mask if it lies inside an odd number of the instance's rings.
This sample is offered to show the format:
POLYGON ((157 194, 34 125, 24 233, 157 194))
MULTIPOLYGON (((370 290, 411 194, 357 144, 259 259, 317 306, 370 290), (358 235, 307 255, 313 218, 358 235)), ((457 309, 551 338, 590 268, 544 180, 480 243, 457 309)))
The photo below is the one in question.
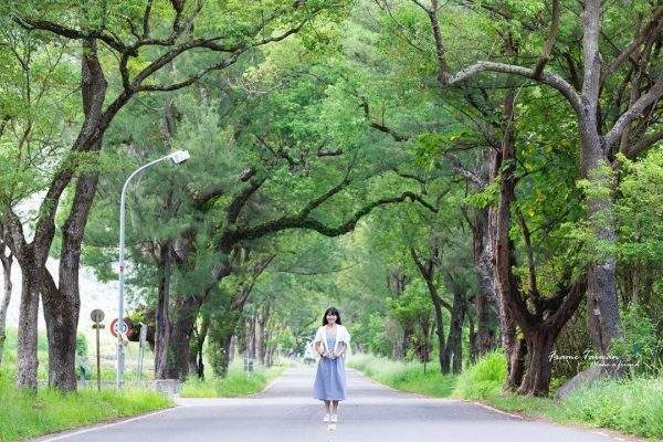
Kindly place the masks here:
POLYGON ((138 169, 134 170, 129 178, 125 181, 122 188, 122 196, 119 198, 119 293, 117 295, 117 371, 116 371, 116 387, 119 389, 122 387, 122 377, 124 371, 124 344, 122 341, 122 335, 126 332, 125 322, 124 322, 124 224, 125 224, 125 200, 127 193, 127 187, 129 186, 129 181, 131 178, 140 173, 143 170, 147 169, 150 166, 156 165, 157 162, 164 161, 166 159, 171 159, 176 165, 181 165, 186 160, 190 158, 188 150, 177 150, 170 155, 161 157, 159 159, 155 159, 151 162, 148 162, 145 166, 140 166, 138 169))

